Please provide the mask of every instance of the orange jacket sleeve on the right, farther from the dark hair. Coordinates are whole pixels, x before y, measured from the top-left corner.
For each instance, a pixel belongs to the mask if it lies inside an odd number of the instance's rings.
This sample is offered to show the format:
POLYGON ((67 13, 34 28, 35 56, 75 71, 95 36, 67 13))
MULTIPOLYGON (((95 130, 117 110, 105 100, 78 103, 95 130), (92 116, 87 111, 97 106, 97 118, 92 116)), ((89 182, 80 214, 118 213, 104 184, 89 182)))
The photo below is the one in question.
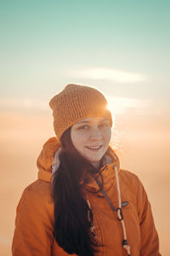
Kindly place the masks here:
POLYGON ((159 239, 151 212, 150 202, 138 179, 137 210, 140 225, 140 256, 161 256, 159 239))

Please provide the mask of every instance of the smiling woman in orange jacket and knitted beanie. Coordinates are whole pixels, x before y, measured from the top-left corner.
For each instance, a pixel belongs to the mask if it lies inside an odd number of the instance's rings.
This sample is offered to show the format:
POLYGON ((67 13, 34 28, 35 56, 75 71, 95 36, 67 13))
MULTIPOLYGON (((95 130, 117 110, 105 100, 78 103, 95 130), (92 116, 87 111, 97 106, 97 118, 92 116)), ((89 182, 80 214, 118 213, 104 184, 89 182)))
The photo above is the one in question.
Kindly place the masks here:
POLYGON ((20 199, 13 255, 160 256, 139 178, 111 148, 111 112, 92 87, 68 84, 49 102, 56 137, 20 199))

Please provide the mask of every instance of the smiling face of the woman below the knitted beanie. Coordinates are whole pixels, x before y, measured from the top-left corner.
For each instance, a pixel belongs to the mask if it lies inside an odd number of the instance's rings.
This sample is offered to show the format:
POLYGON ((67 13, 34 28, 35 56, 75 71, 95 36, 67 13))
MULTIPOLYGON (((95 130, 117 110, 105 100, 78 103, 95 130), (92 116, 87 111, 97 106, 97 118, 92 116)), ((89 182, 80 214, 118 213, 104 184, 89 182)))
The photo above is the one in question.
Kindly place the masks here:
POLYGON ((111 125, 108 119, 90 117, 71 126, 71 141, 77 151, 96 168, 111 141, 111 125))

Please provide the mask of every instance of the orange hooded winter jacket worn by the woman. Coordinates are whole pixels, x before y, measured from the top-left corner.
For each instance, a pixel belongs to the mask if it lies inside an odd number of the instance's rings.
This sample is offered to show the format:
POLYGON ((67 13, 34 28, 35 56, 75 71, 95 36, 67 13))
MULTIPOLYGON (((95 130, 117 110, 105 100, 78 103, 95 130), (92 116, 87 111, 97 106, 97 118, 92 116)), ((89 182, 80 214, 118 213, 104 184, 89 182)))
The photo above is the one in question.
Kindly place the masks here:
MULTIPOLYGON (((59 149, 55 137, 48 140, 37 159, 38 179, 23 192, 17 207, 12 245, 13 256, 66 256, 69 255, 54 240, 54 201, 51 189, 54 153, 59 149)), ((114 154, 114 152, 112 152, 114 154)), ((116 177, 113 165, 117 166, 122 207, 131 256, 160 256, 158 236, 150 210, 150 203, 139 178, 131 172, 120 170, 119 161, 103 168, 104 189, 114 207, 118 207, 116 177)), ((88 189, 98 190, 95 181, 88 183, 88 189)), ((127 256, 122 247, 122 225, 116 212, 99 192, 85 192, 94 212, 94 233, 104 247, 99 247, 96 256, 127 256)), ((75 254, 74 254, 75 255, 75 254)))

